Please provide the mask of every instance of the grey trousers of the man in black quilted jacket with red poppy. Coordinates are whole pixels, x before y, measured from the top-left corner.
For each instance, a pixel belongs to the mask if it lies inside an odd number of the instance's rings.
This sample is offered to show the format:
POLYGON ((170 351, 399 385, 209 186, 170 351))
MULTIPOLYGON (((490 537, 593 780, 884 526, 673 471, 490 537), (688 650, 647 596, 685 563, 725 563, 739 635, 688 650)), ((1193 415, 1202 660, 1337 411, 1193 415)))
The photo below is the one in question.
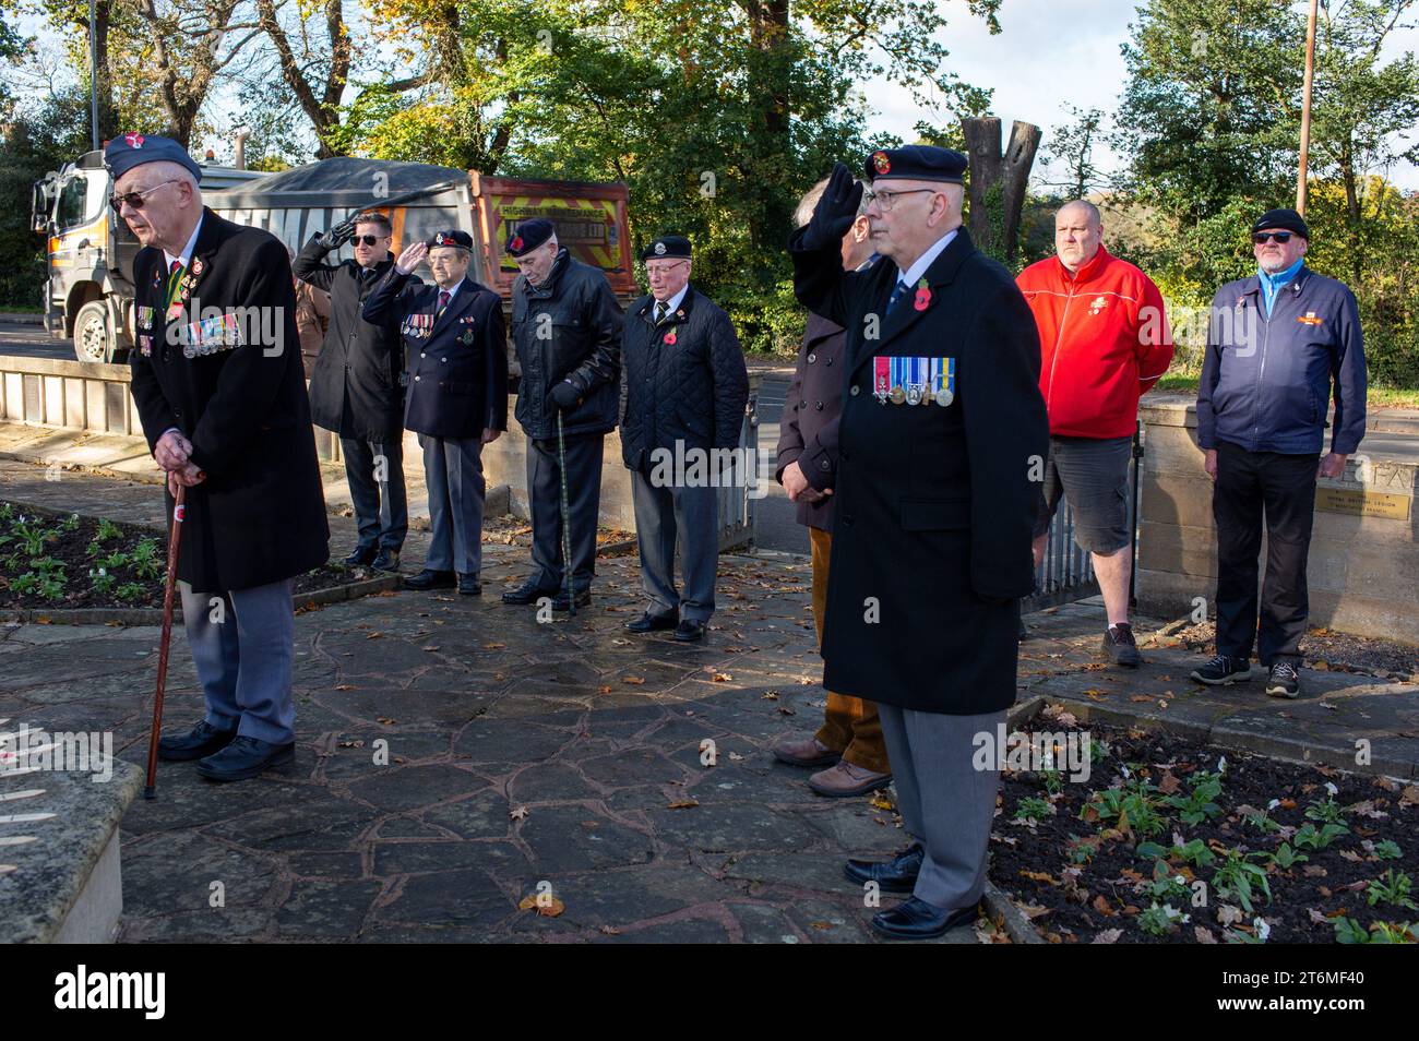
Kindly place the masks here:
POLYGON ((708 621, 719 566, 718 488, 657 486, 639 469, 630 474, 636 509, 640 580, 653 614, 678 610, 681 618, 708 621), (685 594, 675 589, 675 540, 685 569, 685 594))

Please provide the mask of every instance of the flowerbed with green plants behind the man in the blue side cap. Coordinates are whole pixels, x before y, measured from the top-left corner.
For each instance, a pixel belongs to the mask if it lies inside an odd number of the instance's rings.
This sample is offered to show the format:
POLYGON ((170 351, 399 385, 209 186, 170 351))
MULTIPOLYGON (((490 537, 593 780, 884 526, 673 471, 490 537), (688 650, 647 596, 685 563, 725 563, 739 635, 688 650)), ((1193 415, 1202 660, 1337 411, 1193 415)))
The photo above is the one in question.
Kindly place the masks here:
MULTIPOLYGON (((0 608, 162 607, 166 546, 149 528, 0 502, 0 608)), ((299 576, 295 591, 366 577, 324 564, 299 576)))

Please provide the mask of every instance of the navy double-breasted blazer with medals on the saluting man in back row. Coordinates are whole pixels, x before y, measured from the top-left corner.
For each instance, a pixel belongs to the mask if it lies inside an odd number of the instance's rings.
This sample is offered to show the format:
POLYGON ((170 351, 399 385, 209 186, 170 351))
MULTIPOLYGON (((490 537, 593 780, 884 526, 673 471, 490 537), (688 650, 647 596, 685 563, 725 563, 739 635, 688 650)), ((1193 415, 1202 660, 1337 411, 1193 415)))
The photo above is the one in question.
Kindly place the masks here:
POLYGON ((440 312, 437 285, 410 285, 390 265, 365 299, 365 321, 393 321, 404 340, 404 427, 455 440, 508 428, 508 326, 498 294, 464 278, 440 312))

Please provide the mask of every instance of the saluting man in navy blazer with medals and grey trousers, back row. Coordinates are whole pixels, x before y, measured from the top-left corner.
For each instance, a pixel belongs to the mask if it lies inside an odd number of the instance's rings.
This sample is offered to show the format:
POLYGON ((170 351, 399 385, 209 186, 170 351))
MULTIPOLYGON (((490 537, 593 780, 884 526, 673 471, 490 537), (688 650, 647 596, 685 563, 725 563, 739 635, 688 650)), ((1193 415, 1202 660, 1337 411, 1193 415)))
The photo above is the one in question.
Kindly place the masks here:
POLYGON ((409 359, 404 425, 419 434, 433 533, 409 589, 482 593, 482 445, 508 428, 502 298, 468 278, 473 237, 438 231, 406 247, 365 301, 365 321, 399 323, 409 359), (409 285, 424 258, 434 285, 409 285), (457 573, 457 579, 454 574, 457 573))

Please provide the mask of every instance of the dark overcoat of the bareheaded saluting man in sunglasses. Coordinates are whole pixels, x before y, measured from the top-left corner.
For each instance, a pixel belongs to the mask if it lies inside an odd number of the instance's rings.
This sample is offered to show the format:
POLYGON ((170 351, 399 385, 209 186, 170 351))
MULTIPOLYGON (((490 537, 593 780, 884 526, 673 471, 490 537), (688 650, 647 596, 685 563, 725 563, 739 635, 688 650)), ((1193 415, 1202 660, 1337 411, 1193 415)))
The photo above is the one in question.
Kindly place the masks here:
POLYGON ((316 235, 291 265, 297 278, 331 295, 331 328, 311 372, 311 418, 341 437, 399 440, 404 434, 404 345, 399 323, 366 322, 362 313, 365 299, 394 267, 394 258, 366 269, 353 260, 325 264, 326 252, 316 235))

